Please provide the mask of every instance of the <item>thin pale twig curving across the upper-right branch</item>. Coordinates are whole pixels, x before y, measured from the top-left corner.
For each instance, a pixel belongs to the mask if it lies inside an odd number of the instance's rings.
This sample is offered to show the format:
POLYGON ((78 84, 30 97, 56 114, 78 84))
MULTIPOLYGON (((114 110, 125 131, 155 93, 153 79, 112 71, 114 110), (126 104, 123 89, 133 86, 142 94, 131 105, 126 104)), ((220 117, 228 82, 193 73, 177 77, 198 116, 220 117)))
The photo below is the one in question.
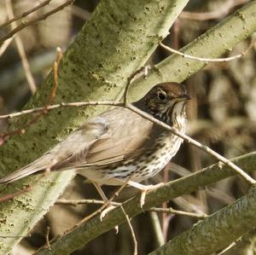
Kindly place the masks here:
POLYGON ((191 59, 191 60, 195 60, 195 61, 203 61, 203 62, 228 62, 228 61, 234 61, 237 60, 245 55, 247 55, 247 52, 253 48, 253 44, 255 43, 256 38, 254 38, 252 40, 252 42, 250 43, 249 47, 247 49, 245 49, 243 52, 241 52, 238 55, 233 55, 230 57, 226 57, 226 58, 216 58, 216 59, 212 59, 212 58, 203 58, 203 57, 198 57, 198 56, 194 56, 194 55, 188 55, 188 54, 184 54, 176 49, 172 49, 168 46, 166 46, 163 43, 160 43, 160 46, 168 51, 170 51, 173 54, 177 54, 177 55, 182 55, 185 58, 191 59))

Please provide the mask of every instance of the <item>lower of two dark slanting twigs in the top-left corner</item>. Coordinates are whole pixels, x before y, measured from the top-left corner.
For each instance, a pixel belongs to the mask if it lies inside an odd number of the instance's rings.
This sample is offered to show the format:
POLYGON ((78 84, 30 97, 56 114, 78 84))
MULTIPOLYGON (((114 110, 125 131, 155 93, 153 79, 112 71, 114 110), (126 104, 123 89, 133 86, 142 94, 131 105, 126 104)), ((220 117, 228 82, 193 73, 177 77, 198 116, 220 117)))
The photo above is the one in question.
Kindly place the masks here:
POLYGON ((22 30, 23 28, 25 28, 26 26, 31 26, 32 24, 40 21, 40 20, 45 20, 47 19, 50 15, 55 14, 57 12, 59 12, 61 9, 64 9, 65 7, 67 7, 68 5, 73 4, 75 0, 68 0, 66 3, 61 4, 60 6, 58 6, 55 9, 50 10, 48 13, 42 14, 39 17, 36 17, 34 19, 31 20, 23 20, 19 26, 17 26, 15 29, 13 29, 12 31, 10 31, 9 33, 7 33, 6 35, 4 35, 2 38, 0 38, 0 44, 3 43, 6 39, 11 38, 15 35, 16 32, 19 32, 20 30, 22 30))

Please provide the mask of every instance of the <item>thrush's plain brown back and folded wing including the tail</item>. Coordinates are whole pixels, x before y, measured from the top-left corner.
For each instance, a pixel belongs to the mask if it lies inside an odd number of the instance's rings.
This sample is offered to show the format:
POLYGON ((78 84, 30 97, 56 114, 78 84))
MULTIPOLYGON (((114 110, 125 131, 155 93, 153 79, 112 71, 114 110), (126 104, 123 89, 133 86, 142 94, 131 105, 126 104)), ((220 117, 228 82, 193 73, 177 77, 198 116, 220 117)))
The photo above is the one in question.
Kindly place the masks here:
POLYGON ((91 119, 39 159, 0 178, 0 184, 50 169, 105 165, 125 159, 149 137, 152 123, 137 113, 114 108, 91 119))

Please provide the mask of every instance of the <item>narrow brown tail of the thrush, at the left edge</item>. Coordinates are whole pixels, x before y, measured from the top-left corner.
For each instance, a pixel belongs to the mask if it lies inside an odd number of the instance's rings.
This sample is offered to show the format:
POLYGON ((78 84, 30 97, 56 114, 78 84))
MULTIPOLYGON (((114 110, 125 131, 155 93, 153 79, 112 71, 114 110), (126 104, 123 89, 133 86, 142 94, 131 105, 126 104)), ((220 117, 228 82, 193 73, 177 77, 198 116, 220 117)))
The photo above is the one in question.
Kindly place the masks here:
POLYGON ((54 161, 55 160, 53 159, 52 155, 44 154, 41 158, 35 160, 31 164, 26 165, 17 171, 12 172, 6 177, 0 178, 0 185, 5 183, 13 183, 15 181, 20 180, 23 177, 30 176, 39 171, 47 170, 52 165, 54 165, 54 161))

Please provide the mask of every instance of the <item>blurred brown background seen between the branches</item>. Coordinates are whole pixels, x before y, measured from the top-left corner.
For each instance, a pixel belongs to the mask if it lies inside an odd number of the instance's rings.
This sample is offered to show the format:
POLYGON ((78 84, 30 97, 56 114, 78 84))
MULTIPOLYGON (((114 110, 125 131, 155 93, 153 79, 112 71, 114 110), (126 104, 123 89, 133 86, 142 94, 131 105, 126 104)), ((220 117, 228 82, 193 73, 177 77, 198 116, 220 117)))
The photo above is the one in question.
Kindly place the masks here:
MULTIPOLYGON (((190 1, 185 12, 170 29, 170 36, 165 43, 174 49, 180 49, 201 33, 223 20, 225 16, 240 8, 249 1, 230 0, 194 0, 190 1), (200 14, 198 14, 200 13, 200 14)), ((15 15, 22 14, 27 9, 42 3, 42 1, 19 0, 13 2, 15 15)), ((63 0, 52 1, 49 6, 38 11, 43 14, 54 9, 63 0)), ((90 13, 96 7, 97 1, 77 0, 73 6, 52 15, 47 20, 26 27, 19 33, 26 50, 35 84, 40 86, 55 60, 55 47, 65 49, 68 43, 79 32, 90 13)), ((31 14, 29 17, 32 17, 31 14)), ((8 19, 4 1, 0 2, 0 24, 8 19)), ((9 31, 9 26, 0 30, 2 36, 9 31)), ((248 38, 232 50, 231 55, 247 49, 252 38, 248 38)), ((199 142, 210 146, 219 154, 231 159, 241 154, 255 150, 256 142, 256 75, 255 75, 255 45, 247 55, 239 60, 209 64, 201 72, 196 73, 184 84, 190 96, 187 133, 199 142)), ((149 64, 158 63, 167 55, 165 49, 157 49, 149 64)), ((226 55, 228 56, 228 55, 226 55)), ((20 111, 32 95, 27 83, 24 69, 20 61, 15 40, 0 58, 0 111, 10 113, 20 111)), ((6 121, 0 122, 1 130, 8 129, 6 121)), ((198 148, 184 143, 175 159, 168 165, 161 176, 148 180, 148 183, 160 183, 183 177, 190 172, 201 170, 204 166, 216 163, 216 159, 198 148)), ((115 188, 105 187, 108 196, 115 188)), ((223 206, 232 203, 247 191, 247 183, 240 177, 232 177, 218 182, 211 187, 202 188, 195 194, 190 194, 171 201, 167 206, 187 212, 207 213, 218 211, 223 206)), ((118 200, 125 200, 136 194, 133 188, 125 188, 118 200)), ((92 185, 84 183, 82 177, 76 177, 63 197, 66 199, 99 199, 92 185)), ((98 206, 55 205, 47 217, 33 229, 32 235, 26 237, 17 246, 13 254, 31 254, 45 243, 45 234, 49 226, 49 237, 62 233, 81 220, 85 215, 94 212, 98 206)), ((132 219, 139 254, 147 254, 160 245, 154 230, 158 223, 155 215, 145 212, 132 219)), ((163 229, 163 235, 169 240, 174 235, 189 228, 197 219, 173 214, 157 214, 163 229)), ((131 254, 133 243, 127 224, 119 227, 119 234, 114 230, 90 242, 79 254, 131 254)))

